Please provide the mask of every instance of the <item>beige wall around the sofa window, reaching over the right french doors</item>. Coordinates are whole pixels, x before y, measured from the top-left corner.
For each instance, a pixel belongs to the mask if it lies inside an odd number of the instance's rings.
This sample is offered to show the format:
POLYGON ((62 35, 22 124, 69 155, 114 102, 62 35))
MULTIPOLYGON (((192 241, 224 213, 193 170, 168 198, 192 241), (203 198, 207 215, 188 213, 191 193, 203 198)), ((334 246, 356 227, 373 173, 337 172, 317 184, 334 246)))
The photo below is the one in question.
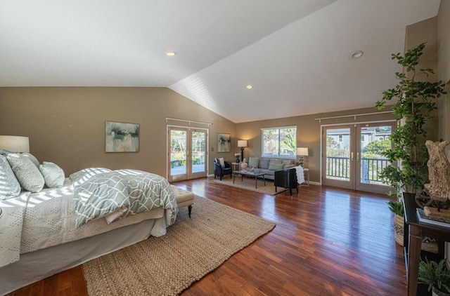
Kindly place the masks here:
MULTIPOLYGON (((375 102, 373 104, 375 105, 375 102)), ((375 108, 366 108, 347 110, 345 112, 332 112, 307 116, 288 117, 284 119, 271 119, 264 121, 238 123, 236 124, 236 136, 240 140, 248 140, 249 147, 245 148, 245 158, 248 159, 250 156, 261 156, 261 128, 297 126, 297 147, 308 147, 309 156, 306 159, 305 166, 309 168, 309 177, 311 179, 311 182, 320 182, 321 125, 383 121, 394 119, 394 116, 392 114, 380 114, 378 116, 358 116, 356 118, 356 121, 354 120, 354 117, 345 117, 341 119, 326 119, 322 120, 320 123, 319 121, 314 119, 372 112, 378 112, 378 110, 376 110, 375 108)))

